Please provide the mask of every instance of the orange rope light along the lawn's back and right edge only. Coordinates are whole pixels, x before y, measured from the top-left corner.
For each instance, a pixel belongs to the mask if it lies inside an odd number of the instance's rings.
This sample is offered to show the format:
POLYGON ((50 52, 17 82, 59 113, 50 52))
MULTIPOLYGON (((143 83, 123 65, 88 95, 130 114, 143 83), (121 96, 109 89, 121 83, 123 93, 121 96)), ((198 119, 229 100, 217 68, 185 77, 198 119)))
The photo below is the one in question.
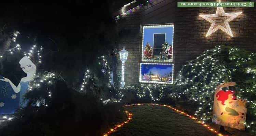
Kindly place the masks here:
MULTIPOLYGON (((156 105, 156 106, 165 106, 165 107, 171 108, 173 111, 178 112, 178 113, 180 113, 180 114, 183 114, 183 115, 189 117, 190 119, 195 120, 197 123, 203 125, 205 128, 207 128, 208 130, 210 130, 212 133, 215 133, 217 136, 228 136, 228 135, 223 135, 222 133, 217 132, 216 130, 214 130, 213 128, 211 128, 209 125, 205 124, 205 123, 202 122, 202 121, 197 120, 196 117, 191 116, 191 115, 189 115, 189 114, 187 114, 187 113, 185 113, 185 112, 182 112, 182 111, 180 111, 179 109, 176 109, 176 108, 174 108, 174 107, 172 107, 172 106, 169 106, 169 105, 165 105, 165 104, 154 104, 154 103, 148 103, 148 104, 146 104, 146 103, 140 104, 140 103, 139 103, 139 104, 124 105, 123 107, 127 107, 127 106, 140 106, 140 105, 152 105, 152 106, 153 106, 153 105, 156 105)), ((104 136, 105 136, 105 135, 104 135, 104 136)), ((107 135, 106 135, 106 136, 107 136, 107 135)))

